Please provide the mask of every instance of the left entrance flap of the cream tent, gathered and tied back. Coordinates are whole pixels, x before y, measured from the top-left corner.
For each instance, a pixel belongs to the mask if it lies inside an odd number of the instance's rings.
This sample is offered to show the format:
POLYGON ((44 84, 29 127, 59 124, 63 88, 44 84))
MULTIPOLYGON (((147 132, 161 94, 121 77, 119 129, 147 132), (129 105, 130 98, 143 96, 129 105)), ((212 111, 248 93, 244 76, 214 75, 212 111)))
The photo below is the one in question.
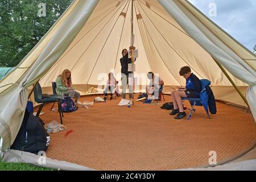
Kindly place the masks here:
MULTIPOLYGON (((14 82, 14 85, 9 86, 9 88, 6 88, 5 83, 0 82, 0 86, 7 89, 5 92, 1 92, 0 97, 0 136, 3 138, 2 151, 10 147, 15 140, 16 134, 18 134, 28 99, 27 88, 40 80, 56 60, 59 59, 79 33, 82 26, 84 26, 97 3, 98 1, 96 0, 75 1, 65 11, 55 26, 53 26, 51 31, 48 32, 48 35, 51 35, 50 38, 46 36, 35 47, 36 49, 42 46, 43 49, 40 52, 34 52, 34 49, 27 56, 27 60, 23 60, 22 64, 30 63, 30 69, 25 73, 16 75, 14 78, 10 74, 6 80, 12 78, 13 80, 9 80, 9 83, 14 82), (44 42, 47 39, 49 41, 44 42), (34 54, 38 55, 32 56, 34 54)), ((17 73, 13 72, 13 74, 17 73)))

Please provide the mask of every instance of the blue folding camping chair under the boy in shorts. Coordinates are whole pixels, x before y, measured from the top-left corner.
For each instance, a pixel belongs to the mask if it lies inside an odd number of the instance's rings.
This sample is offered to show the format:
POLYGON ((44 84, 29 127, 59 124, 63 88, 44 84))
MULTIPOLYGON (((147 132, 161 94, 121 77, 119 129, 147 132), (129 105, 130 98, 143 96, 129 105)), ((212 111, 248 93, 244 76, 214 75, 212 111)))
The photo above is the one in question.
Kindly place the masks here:
POLYGON ((206 92, 206 86, 210 85, 210 81, 207 79, 200 80, 201 83, 201 92, 200 98, 182 98, 183 101, 189 101, 191 104, 191 110, 188 114, 187 120, 191 118, 192 112, 195 112, 195 106, 204 106, 205 113, 207 113, 208 118, 210 119, 209 109, 208 109, 208 95, 206 92))

